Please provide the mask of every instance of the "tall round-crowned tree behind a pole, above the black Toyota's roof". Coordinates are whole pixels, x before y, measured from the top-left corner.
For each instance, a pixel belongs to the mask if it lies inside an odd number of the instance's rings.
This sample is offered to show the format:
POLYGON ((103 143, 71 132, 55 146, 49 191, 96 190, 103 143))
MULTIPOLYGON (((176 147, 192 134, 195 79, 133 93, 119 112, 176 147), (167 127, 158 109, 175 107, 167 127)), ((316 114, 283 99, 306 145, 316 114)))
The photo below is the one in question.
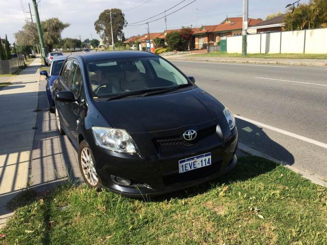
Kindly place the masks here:
MULTIPOLYGON (((124 36, 123 28, 126 26, 127 22, 125 20, 125 14, 123 14, 121 9, 106 9, 100 15, 98 20, 94 23, 97 33, 103 40, 111 40, 111 26, 110 26, 110 11, 112 16, 112 32, 113 40, 117 42, 118 39, 122 39, 124 36)), ((93 45, 92 45, 93 46, 93 45)))

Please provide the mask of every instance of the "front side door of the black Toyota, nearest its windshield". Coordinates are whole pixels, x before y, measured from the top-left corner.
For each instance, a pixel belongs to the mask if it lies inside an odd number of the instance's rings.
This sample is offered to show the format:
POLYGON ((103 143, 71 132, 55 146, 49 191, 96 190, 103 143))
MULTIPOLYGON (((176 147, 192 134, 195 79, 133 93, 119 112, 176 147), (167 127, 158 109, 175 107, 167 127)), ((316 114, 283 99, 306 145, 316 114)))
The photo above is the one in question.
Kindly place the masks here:
POLYGON ((67 114, 66 119, 69 121, 68 130, 72 136, 74 143, 78 142, 78 127, 81 123, 80 112, 83 110, 83 98, 81 95, 82 86, 82 71, 81 66, 77 60, 74 60, 71 66, 71 79, 68 83, 68 89, 74 93, 75 102, 67 102, 67 114))

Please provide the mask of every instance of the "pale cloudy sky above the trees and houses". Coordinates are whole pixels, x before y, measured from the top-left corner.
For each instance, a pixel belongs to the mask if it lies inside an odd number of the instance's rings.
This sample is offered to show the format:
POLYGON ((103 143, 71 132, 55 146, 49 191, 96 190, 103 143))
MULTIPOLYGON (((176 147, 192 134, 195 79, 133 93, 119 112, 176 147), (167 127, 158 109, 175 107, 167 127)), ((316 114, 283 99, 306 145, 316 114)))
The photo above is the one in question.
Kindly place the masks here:
MULTIPOLYGON (((39 0, 37 0, 38 2, 39 0)), ((137 22, 165 11, 181 2, 182 0, 40 0, 40 19, 45 20, 51 17, 58 17, 63 22, 71 24, 62 32, 62 37, 79 38, 84 40, 99 38, 94 28, 94 22, 99 14, 110 8, 120 8, 125 13, 125 19, 129 23, 137 22), (142 5, 143 4, 143 5, 142 5), (142 5, 142 6, 141 6, 142 5), (137 7, 139 6, 139 7, 137 7), (136 7, 136 8, 134 8, 136 7)), ((167 14, 178 8, 191 3, 193 0, 185 0, 167 14)), ((263 18, 278 11, 285 12, 285 6, 293 3, 294 0, 249 0, 249 18, 263 18)), ((307 3, 308 0, 301 0, 300 3, 307 3)), ((26 17, 30 17, 29 4, 32 0, 0 0, 0 36, 8 35, 10 43, 14 42, 14 33, 24 26, 26 17), (24 10, 23 10, 24 8, 24 10)), ((218 24, 229 17, 242 16, 243 0, 196 0, 189 6, 167 16, 167 29, 178 29, 181 26, 200 27, 203 25, 218 24)), ((161 17, 160 15, 158 17, 161 17)), ((156 17, 156 18, 158 18, 156 17)), ((34 18, 34 16, 33 16, 34 18)), ((154 18, 155 19, 155 18, 154 18)), ((34 18, 35 20, 35 18, 34 18)), ((150 19, 152 20, 152 19, 150 19)), ((150 21, 149 20, 149 21, 150 21)), ((30 21, 30 19, 28 19, 30 21)), ((147 26, 130 29, 125 28, 125 37, 143 35, 147 32, 147 26)), ((160 19, 150 23, 150 32, 163 32, 165 20, 160 19)))

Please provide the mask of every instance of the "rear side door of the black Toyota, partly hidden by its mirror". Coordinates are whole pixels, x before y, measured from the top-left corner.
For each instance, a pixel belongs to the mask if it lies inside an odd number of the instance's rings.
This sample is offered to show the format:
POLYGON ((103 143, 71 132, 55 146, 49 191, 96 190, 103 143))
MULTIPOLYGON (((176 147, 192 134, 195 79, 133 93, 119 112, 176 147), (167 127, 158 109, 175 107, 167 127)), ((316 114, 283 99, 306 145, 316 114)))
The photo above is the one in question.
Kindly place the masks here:
MULTIPOLYGON (((63 69, 61 70, 58 82, 56 84, 54 94, 61 91, 67 91, 69 80, 72 78, 71 76, 71 68, 72 68, 72 59, 66 60, 63 69)), ((67 113, 69 113, 69 109, 67 107, 67 102, 56 101, 56 107, 61 118, 62 127, 64 128, 66 133, 69 133, 69 121, 67 120, 67 113)), ((69 136, 69 135, 68 135, 69 136)))

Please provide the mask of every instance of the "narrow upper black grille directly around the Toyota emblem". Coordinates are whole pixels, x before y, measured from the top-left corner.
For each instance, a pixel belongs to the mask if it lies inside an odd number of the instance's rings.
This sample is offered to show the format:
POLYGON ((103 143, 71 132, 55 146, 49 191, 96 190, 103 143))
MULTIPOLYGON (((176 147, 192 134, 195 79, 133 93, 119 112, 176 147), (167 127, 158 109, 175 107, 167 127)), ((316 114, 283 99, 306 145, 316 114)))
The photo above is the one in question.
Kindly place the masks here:
POLYGON ((216 125, 201 129, 197 132, 197 137, 194 140, 188 141, 183 138, 182 135, 173 135, 169 137, 156 138, 155 142, 159 145, 182 145, 182 146, 191 146, 194 145, 201 139, 208 137, 216 132, 216 125))

